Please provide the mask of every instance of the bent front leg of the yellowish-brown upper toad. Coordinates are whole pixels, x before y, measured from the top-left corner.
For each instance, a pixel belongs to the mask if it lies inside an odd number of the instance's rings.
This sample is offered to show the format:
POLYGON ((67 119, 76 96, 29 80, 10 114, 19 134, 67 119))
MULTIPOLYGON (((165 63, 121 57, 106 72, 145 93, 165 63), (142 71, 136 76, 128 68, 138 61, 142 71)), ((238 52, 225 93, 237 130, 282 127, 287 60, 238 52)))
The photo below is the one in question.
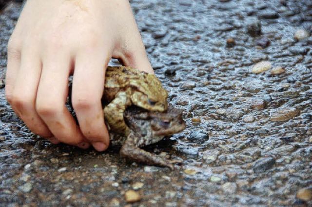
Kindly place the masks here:
POLYGON ((123 119, 123 112, 131 105, 126 92, 118 92, 116 98, 104 108, 105 121, 112 131, 128 135, 129 128, 123 119))

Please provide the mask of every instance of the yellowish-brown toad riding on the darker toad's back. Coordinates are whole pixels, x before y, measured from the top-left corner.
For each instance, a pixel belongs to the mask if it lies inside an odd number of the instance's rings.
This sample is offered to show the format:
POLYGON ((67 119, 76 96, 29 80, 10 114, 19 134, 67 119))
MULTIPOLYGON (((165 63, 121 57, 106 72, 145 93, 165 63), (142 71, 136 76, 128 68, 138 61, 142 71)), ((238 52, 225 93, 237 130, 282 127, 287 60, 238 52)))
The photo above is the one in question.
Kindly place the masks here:
POLYGON ((153 74, 136 69, 108 66, 102 102, 108 127, 116 133, 126 134, 129 129, 124 123, 123 113, 130 105, 149 111, 165 111, 168 92, 153 74))

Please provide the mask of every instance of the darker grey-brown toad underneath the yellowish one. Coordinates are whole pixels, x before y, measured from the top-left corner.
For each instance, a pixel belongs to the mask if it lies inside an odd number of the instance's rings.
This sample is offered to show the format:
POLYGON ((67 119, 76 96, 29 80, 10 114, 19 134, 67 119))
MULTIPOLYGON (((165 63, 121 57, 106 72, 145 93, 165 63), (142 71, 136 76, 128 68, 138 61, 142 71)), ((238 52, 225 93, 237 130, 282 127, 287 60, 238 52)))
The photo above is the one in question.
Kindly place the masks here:
POLYGON ((154 144, 166 135, 172 135, 185 129, 182 111, 168 104, 165 112, 147 111, 131 106, 124 112, 124 120, 129 127, 129 134, 123 135, 110 131, 112 145, 122 145, 121 156, 130 161, 146 165, 166 166, 174 168, 175 160, 170 161, 139 147, 154 144))

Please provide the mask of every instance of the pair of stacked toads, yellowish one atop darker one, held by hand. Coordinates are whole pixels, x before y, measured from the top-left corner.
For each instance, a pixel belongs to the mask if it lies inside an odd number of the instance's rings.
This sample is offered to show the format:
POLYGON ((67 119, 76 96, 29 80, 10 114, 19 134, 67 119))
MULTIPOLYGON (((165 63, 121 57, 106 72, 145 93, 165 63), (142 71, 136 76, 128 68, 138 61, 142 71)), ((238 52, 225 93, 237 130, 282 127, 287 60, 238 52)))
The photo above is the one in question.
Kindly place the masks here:
POLYGON ((121 156, 146 165, 174 168, 170 161, 140 147, 182 131, 182 111, 167 103, 168 92, 153 74, 108 66, 102 98, 111 145, 122 145, 121 156))

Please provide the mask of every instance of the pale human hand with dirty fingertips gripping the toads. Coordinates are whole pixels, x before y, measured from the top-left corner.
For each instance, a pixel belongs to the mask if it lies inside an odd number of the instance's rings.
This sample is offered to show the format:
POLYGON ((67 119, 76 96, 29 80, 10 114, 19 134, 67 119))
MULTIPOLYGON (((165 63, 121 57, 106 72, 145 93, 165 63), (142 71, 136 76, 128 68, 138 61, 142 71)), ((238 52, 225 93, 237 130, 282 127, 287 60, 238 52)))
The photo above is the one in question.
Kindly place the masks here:
POLYGON ((154 73, 128 0, 27 0, 8 42, 6 98, 51 143, 104 151, 100 100, 111 58, 154 73), (70 75, 79 126, 65 107, 70 75))

